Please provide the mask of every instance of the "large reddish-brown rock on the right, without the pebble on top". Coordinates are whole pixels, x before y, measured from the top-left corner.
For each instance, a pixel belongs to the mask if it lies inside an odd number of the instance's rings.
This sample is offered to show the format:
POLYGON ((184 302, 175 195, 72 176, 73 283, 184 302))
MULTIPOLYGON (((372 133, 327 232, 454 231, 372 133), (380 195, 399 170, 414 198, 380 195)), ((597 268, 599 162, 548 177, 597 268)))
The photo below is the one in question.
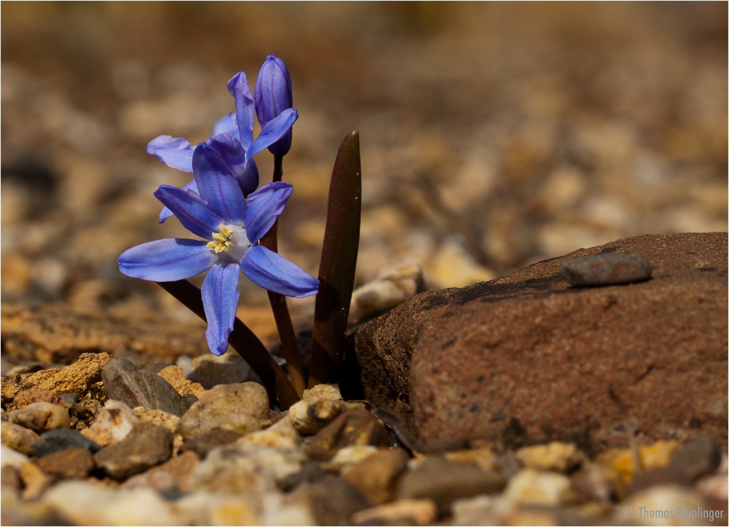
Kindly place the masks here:
POLYGON ((365 397, 426 441, 499 448, 727 438, 727 235, 642 235, 418 294, 355 337, 365 397), (652 279, 582 288, 566 258, 643 254, 652 279))

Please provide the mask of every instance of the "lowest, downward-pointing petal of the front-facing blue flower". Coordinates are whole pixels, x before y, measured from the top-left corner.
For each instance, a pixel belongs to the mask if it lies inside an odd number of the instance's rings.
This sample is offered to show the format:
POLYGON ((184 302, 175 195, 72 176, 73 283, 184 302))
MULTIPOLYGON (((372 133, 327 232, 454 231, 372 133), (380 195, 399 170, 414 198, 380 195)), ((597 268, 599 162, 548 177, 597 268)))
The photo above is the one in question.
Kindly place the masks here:
POLYGON ((235 311, 238 309, 238 265, 213 265, 203 281, 203 307, 208 329, 205 337, 214 355, 227 351, 227 337, 233 331, 235 311))

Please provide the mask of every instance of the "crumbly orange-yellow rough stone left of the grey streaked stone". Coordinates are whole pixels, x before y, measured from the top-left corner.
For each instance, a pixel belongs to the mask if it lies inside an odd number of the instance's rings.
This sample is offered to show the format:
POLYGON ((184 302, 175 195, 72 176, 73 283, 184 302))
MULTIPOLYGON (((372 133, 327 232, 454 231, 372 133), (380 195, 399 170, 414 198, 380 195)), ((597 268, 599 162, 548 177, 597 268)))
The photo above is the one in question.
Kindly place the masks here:
POLYGON ((85 393, 101 380, 101 370, 112 360, 106 353, 82 354, 79 359, 63 370, 41 370, 20 381, 20 388, 27 390, 55 391, 58 394, 85 393))

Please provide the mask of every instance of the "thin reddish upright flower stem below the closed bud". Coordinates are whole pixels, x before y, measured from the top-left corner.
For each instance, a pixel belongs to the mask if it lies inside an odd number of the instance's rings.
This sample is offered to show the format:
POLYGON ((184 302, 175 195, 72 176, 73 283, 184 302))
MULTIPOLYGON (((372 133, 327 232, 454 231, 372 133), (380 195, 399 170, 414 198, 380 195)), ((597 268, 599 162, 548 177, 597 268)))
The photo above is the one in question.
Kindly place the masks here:
MULTIPOLYGON (((281 177, 284 175, 283 161, 284 156, 273 156, 273 181, 281 181, 281 177)), ((278 218, 268 233, 260 239, 259 243, 266 249, 278 252, 278 218)), ((291 321, 289 307, 286 305, 286 297, 283 294, 269 291, 268 301, 271 305, 271 311, 273 311, 273 318, 276 319, 278 336, 281 337, 281 347, 284 348, 286 364, 289 367, 289 378, 291 378, 296 393, 301 397, 306 389, 306 377, 301 363, 299 346, 296 342, 294 324, 291 321)))

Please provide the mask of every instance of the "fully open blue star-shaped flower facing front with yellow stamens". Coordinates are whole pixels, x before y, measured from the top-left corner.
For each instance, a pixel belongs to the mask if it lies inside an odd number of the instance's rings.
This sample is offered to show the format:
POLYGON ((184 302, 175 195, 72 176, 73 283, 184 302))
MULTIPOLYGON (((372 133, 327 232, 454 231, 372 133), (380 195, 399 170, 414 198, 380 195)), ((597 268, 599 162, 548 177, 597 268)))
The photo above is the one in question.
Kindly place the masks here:
POLYGON ((203 281, 205 335, 210 351, 222 355, 238 308, 239 271, 264 289, 297 298, 316 294, 319 280, 257 245, 284 210, 292 192, 290 184, 264 185, 249 194, 246 203, 230 165, 217 149, 198 144, 191 164, 198 192, 162 185, 155 197, 187 230, 205 240, 150 241, 124 251, 117 262, 127 276, 158 282, 183 280, 209 269, 203 281))

